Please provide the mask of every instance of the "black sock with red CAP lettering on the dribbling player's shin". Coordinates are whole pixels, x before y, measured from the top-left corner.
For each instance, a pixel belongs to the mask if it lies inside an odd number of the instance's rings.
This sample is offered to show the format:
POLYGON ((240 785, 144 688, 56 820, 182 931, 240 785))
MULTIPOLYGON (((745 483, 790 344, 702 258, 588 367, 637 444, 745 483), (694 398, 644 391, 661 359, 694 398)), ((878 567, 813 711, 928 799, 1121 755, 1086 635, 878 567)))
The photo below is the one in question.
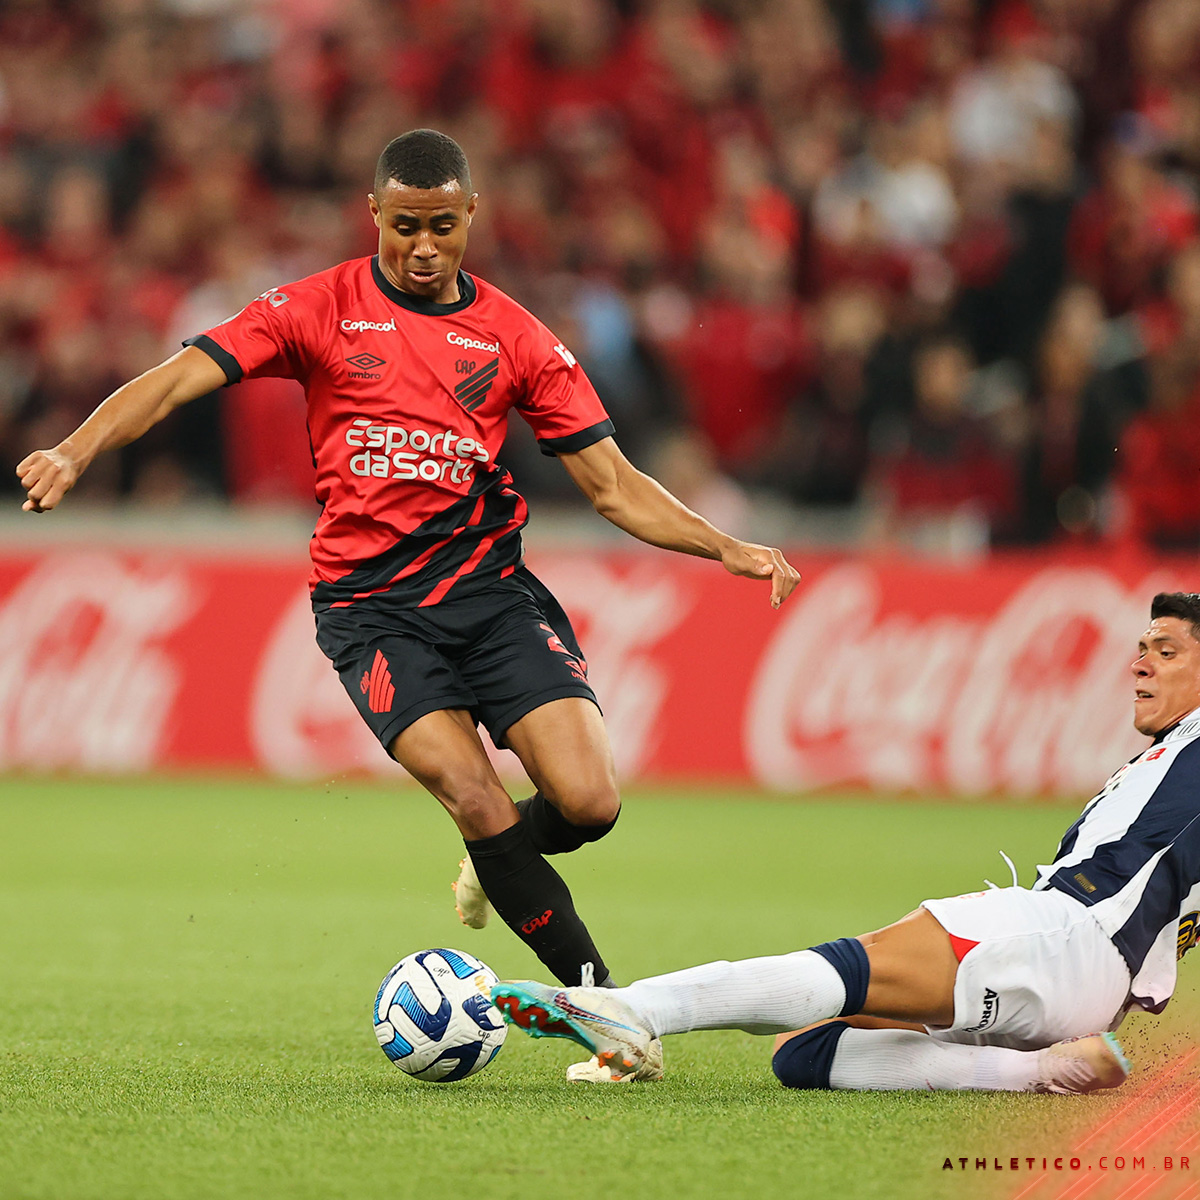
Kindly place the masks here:
POLYGON ((494 838, 463 844, 492 906, 559 983, 581 983, 584 964, 592 965, 595 984, 608 983, 608 968, 575 911, 570 890, 538 853, 524 821, 494 838))

